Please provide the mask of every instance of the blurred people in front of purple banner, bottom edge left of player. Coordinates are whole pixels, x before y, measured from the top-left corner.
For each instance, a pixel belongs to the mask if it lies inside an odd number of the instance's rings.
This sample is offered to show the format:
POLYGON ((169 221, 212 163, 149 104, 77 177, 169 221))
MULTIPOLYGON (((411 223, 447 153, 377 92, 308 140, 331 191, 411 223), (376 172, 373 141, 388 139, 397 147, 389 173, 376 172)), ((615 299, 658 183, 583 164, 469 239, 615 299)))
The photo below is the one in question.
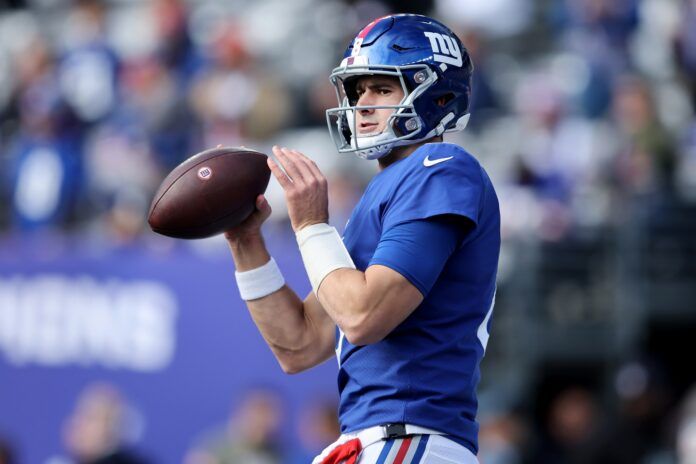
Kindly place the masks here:
MULTIPOLYGON (((291 425, 281 392, 255 387, 232 398, 228 417, 189 437, 182 464, 308 464, 340 434, 337 404, 316 398, 291 425)), ((64 419, 62 450, 44 464, 154 464, 145 450, 147 418, 108 382, 87 384, 64 419)), ((0 464, 18 464, 26 450, 0 435, 0 464)))

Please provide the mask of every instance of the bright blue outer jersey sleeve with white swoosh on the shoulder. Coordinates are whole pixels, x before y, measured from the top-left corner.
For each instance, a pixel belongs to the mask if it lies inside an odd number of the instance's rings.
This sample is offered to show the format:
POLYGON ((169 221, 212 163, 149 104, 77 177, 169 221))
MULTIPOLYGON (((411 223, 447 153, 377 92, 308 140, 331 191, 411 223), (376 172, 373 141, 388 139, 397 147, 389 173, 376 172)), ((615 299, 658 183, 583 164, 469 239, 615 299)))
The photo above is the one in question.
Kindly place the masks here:
POLYGON ((485 188, 478 162, 466 152, 446 149, 414 161, 386 205, 382 230, 442 214, 464 216, 476 226, 485 188))

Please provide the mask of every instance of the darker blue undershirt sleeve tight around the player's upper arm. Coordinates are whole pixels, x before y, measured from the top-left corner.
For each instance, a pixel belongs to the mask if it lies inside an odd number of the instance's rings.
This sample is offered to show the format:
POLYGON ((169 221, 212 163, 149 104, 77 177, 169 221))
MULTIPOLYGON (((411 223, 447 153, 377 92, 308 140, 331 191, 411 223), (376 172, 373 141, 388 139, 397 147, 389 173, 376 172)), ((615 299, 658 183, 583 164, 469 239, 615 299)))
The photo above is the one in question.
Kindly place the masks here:
POLYGON ((393 269, 425 297, 470 227, 450 215, 402 222, 382 234, 369 265, 393 269))

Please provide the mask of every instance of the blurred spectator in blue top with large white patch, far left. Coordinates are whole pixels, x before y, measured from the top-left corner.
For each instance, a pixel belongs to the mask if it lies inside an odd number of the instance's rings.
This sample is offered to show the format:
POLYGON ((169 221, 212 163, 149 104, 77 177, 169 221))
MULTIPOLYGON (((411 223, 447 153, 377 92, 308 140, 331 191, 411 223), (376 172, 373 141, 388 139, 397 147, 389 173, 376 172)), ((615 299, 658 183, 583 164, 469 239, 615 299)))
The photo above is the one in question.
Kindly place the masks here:
POLYGON ((20 230, 74 222, 83 182, 81 136, 40 37, 17 57, 21 129, 10 143, 13 219, 20 230))

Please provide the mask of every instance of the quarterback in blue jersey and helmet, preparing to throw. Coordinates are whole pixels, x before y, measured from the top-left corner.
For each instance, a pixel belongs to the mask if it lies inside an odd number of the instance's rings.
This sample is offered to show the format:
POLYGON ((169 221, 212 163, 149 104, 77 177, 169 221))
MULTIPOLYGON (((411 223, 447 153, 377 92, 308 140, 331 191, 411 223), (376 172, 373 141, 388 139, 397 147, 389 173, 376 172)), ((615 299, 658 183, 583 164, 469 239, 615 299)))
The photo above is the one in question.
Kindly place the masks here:
POLYGON ((327 181, 304 154, 273 147, 312 284, 285 285, 257 211, 226 238, 241 297, 288 373, 338 361, 342 435, 315 464, 476 463, 476 386, 500 250, 488 175, 443 134, 469 118, 472 63, 460 40, 419 15, 374 20, 331 74, 327 110, 340 153, 379 172, 343 237, 328 225, 327 181))

